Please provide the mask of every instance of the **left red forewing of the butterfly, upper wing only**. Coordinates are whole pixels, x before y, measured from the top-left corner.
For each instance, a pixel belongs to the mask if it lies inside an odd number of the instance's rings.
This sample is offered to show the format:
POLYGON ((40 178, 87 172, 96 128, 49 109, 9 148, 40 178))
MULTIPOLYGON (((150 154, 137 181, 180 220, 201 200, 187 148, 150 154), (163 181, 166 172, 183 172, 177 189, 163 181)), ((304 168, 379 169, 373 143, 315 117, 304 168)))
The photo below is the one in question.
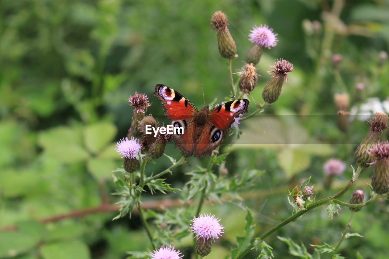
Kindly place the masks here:
POLYGON ((159 98, 165 116, 173 121, 194 117, 198 110, 182 94, 163 84, 155 86, 154 96, 159 98))

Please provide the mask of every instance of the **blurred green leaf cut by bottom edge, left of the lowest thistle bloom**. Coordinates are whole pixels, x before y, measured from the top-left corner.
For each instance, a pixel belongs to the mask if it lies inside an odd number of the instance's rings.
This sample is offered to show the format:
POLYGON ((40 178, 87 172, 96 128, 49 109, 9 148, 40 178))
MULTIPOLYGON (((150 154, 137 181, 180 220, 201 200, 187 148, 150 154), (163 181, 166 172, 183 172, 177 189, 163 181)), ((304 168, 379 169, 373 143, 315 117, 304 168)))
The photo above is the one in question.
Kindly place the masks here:
POLYGON ((44 244, 40 247, 40 254, 43 259, 91 258, 88 246, 78 240, 44 244))

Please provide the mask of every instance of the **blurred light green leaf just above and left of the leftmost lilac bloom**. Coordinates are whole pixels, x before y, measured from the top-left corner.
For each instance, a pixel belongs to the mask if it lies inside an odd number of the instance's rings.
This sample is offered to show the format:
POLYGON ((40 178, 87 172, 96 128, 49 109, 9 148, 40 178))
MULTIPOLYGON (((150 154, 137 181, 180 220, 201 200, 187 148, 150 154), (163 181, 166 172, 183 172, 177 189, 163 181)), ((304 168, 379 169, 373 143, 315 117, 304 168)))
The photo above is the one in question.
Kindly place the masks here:
POLYGON ((116 126, 110 122, 99 122, 85 129, 85 146, 92 153, 98 153, 116 135, 116 126))

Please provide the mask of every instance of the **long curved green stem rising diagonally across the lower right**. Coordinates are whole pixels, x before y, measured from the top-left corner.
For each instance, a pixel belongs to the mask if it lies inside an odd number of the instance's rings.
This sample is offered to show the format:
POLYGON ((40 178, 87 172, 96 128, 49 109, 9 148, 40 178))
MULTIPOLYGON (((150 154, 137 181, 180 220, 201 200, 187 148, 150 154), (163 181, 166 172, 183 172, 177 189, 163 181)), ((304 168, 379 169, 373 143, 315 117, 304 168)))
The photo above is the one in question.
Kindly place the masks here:
MULTIPOLYGON (((287 219, 285 219, 284 221, 280 222, 279 224, 275 225, 273 228, 269 229, 268 231, 266 231, 266 233, 264 233, 263 235, 259 236, 259 239, 260 240, 264 240, 266 237, 268 237, 269 235, 271 235, 273 232, 277 231, 278 229, 282 228, 283 226, 285 226, 286 224, 294 221, 295 219, 297 219, 298 217, 301 217, 302 215, 304 215, 305 213, 307 213, 308 211, 316 208, 316 207, 319 207, 321 205, 324 205, 326 203, 329 203, 331 202, 331 200, 334 200, 340 196, 342 196, 348 189, 350 189, 350 187, 352 186, 352 184, 354 184, 354 182, 358 179, 358 176, 359 176, 359 173, 361 173, 361 170, 363 168, 358 166, 357 168, 357 171, 355 173, 355 175, 352 177, 352 179, 350 180, 350 182, 347 184, 346 187, 344 187, 342 190, 340 190, 338 193, 334 194, 334 195, 331 195, 327 198, 324 198, 324 199, 321 199, 319 201, 316 201, 314 203, 312 203, 311 205, 307 206, 307 208, 305 208, 305 210, 300 210, 299 212, 297 212, 296 214, 293 214, 291 215, 290 217, 288 217, 287 219)), ((254 237, 257 236, 257 235, 254 235, 254 237)), ((253 238, 254 239, 254 238, 253 238)), ((240 256, 237 257, 237 259, 240 259, 240 258, 243 258, 245 256, 245 254, 247 254, 247 252, 249 252, 251 249, 252 249, 252 245, 250 245, 250 247, 247 249, 247 250, 244 250, 242 252, 242 254, 240 254, 240 256)))

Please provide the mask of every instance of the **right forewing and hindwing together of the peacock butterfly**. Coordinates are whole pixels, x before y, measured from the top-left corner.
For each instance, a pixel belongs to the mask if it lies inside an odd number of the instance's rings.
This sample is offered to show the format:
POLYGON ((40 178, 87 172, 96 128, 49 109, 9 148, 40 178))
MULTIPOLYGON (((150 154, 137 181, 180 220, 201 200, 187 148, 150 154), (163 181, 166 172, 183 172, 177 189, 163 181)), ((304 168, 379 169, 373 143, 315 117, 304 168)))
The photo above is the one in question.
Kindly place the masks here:
POLYGON ((239 99, 229 101, 209 111, 209 123, 197 132, 199 136, 195 142, 195 156, 210 156, 224 138, 224 131, 231 127, 239 114, 247 113, 249 100, 239 99))

